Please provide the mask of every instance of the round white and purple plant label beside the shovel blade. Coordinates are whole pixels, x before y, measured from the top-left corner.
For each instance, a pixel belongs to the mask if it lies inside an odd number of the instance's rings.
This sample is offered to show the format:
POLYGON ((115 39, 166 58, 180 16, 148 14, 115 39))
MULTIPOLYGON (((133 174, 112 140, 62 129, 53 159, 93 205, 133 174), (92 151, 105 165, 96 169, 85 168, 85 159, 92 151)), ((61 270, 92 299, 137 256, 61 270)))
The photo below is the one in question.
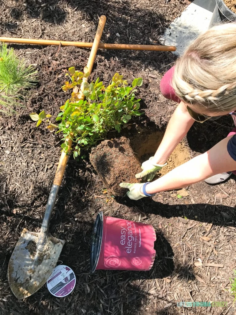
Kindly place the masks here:
POLYGON ((76 276, 70 267, 56 266, 47 280, 49 292, 56 297, 64 297, 70 294, 76 285, 76 276))

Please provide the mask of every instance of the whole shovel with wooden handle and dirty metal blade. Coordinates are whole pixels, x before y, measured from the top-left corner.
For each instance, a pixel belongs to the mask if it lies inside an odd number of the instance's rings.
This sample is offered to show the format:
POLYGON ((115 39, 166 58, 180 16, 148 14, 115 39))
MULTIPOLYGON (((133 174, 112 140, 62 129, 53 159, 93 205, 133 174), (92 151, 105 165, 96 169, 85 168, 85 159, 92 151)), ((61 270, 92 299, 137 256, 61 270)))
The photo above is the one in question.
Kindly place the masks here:
MULTIPOLYGON (((86 72, 91 73, 92 71, 105 22, 106 17, 102 15, 87 62, 86 72)), ((83 90, 86 81, 87 78, 83 78, 83 82, 81 83, 81 99, 84 98, 83 90)), ((72 144, 71 138, 72 135, 65 140, 69 149, 72 144)), ((45 284, 56 266, 65 243, 63 240, 52 237, 48 232, 48 227, 62 177, 65 172, 67 159, 68 155, 62 151, 53 186, 48 197, 40 232, 35 233, 24 229, 11 255, 8 264, 8 281, 12 292, 18 299, 23 299, 34 294, 45 284)))

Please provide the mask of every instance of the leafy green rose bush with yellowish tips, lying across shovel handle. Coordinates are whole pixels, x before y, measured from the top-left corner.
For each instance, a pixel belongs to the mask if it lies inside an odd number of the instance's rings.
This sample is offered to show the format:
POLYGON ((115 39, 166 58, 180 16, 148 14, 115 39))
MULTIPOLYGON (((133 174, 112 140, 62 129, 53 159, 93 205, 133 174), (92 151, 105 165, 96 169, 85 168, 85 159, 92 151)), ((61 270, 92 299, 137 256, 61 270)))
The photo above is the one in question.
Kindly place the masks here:
MULTIPOLYGON (((72 89, 70 99, 60 107, 56 118, 57 124, 49 121, 50 115, 42 111, 39 115, 31 114, 37 121, 37 126, 45 121, 50 130, 57 129, 56 133, 63 134, 62 140, 68 137, 75 143, 73 146, 74 158, 81 156, 81 149, 93 146, 98 140, 104 139, 111 129, 121 131, 122 125, 126 126, 132 116, 139 116, 140 99, 136 99, 136 87, 143 83, 142 78, 135 78, 129 86, 123 76, 115 73, 109 85, 105 87, 99 78, 96 81, 84 83, 83 94, 85 100, 79 99, 79 84, 83 77, 89 73, 78 72, 74 67, 68 69, 70 82, 66 81, 62 89, 67 92, 72 89)), ((61 145, 68 152, 66 141, 61 145)), ((81 156, 82 157, 82 156, 81 156)))

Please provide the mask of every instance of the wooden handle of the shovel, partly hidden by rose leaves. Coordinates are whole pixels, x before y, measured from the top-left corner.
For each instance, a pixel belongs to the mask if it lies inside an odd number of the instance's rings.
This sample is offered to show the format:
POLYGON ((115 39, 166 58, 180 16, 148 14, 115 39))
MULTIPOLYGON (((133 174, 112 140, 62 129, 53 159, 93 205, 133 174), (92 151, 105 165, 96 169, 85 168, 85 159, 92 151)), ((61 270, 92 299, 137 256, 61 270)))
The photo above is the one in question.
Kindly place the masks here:
MULTIPOLYGON (((95 59, 95 56, 96 56, 96 53, 98 50, 98 45, 99 45, 99 42, 100 42, 100 39, 102 36, 105 22, 106 22, 105 15, 101 15, 99 23, 98 23, 97 32, 96 32, 96 35, 94 37, 92 49, 91 49, 91 52, 90 52, 90 55, 88 58, 88 62, 87 62, 87 66, 86 66, 86 72, 89 72, 89 73, 92 72, 94 59, 95 59)), ((84 83, 85 82, 87 82, 87 78, 83 78, 83 81, 82 81, 81 86, 80 86, 80 93, 78 95, 78 98, 80 98, 81 100, 84 99, 83 90, 84 90, 84 83)), ((70 148, 72 145, 72 137, 73 137, 73 135, 70 135, 70 137, 67 137, 67 139, 65 140, 65 143, 68 146, 69 151, 70 151, 70 148)), ((63 177, 63 174, 65 172, 67 160, 68 160, 68 154, 66 154, 65 151, 63 150, 61 152, 61 156, 60 156, 59 164, 57 167, 56 175, 55 175, 55 178, 53 181, 54 185, 58 185, 58 186, 61 185, 62 177, 63 177)))

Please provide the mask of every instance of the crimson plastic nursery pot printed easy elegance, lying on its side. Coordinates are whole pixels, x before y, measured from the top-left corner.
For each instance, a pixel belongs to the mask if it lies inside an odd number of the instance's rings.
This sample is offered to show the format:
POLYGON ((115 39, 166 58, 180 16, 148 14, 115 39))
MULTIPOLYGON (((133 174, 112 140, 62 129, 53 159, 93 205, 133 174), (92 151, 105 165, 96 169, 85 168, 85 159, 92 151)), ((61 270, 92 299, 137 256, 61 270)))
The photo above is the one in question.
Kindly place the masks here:
POLYGON ((151 225, 97 215, 91 244, 91 271, 150 270, 155 260, 151 225))

